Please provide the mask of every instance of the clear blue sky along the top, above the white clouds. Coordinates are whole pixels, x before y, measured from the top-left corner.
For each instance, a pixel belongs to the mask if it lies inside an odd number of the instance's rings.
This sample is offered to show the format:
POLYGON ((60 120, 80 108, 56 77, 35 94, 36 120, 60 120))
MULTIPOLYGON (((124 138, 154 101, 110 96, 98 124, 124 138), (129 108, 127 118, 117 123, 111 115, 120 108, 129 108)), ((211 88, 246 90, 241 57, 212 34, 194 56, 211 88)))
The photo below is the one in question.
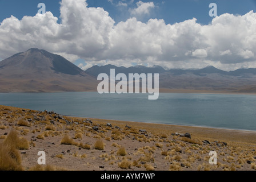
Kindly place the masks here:
MULTIPOLYGON (((59 0, 0 0, 0 22, 11 15, 18 19, 22 19, 25 15, 34 16, 38 11, 37 5, 41 2, 45 3, 46 11, 51 11, 54 16, 59 17, 59 0)), ((108 0, 87 0, 88 7, 102 7, 109 12, 116 23, 130 18, 129 9, 136 7, 138 0, 133 3, 129 3, 130 0, 123 1, 128 4, 125 7, 118 6, 118 2, 119 0, 113 0, 112 3, 108 0)), ((157 6, 150 15, 141 19, 143 22, 149 18, 157 18, 173 24, 197 18, 199 23, 208 24, 212 20, 208 15, 209 4, 212 2, 218 5, 218 15, 224 13, 243 15, 250 10, 256 11, 256 0, 145 0, 143 2, 154 2, 157 6)))

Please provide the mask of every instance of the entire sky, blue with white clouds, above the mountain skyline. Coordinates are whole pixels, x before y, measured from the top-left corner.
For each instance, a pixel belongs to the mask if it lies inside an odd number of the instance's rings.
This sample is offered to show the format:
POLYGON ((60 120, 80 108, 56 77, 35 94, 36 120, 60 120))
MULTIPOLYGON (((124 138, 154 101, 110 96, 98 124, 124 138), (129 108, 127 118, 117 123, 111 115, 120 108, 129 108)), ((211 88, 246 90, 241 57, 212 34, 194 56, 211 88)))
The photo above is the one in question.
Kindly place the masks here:
POLYGON ((256 0, 0 0, 0 23, 0 60, 39 48, 85 70, 256 68, 256 0))

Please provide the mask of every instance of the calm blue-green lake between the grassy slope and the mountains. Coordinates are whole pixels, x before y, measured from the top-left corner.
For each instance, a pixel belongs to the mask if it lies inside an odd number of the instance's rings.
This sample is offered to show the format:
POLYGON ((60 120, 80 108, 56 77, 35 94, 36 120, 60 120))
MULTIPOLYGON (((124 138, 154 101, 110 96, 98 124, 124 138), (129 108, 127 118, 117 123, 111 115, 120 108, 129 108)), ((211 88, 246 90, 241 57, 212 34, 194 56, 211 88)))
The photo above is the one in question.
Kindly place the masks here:
POLYGON ((147 97, 97 92, 0 93, 0 105, 77 117, 256 130, 256 95, 160 93, 158 100, 147 97))

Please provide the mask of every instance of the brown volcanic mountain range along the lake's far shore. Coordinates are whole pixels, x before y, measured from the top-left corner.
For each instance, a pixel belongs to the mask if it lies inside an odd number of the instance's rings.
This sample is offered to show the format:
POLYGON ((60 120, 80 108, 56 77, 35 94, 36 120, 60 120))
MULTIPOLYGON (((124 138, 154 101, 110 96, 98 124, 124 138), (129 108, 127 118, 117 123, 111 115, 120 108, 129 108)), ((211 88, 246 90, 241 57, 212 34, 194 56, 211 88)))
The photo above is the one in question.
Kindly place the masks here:
POLYGON ((164 69, 159 66, 116 67, 95 65, 83 71, 64 57, 31 48, 0 61, 0 92, 86 92, 97 91, 100 73, 159 73, 162 92, 254 93, 256 69, 222 71, 203 69, 164 69))

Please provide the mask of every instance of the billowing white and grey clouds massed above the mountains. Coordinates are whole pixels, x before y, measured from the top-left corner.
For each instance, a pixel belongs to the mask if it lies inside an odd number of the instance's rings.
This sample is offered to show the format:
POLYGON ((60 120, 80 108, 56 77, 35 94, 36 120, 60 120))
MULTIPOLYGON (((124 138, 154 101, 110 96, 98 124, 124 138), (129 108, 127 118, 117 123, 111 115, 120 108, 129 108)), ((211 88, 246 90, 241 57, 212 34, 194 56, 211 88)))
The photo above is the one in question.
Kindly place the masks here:
POLYGON ((31 47, 58 53, 70 61, 95 64, 161 65, 167 68, 202 68, 207 65, 231 70, 256 68, 256 13, 222 14, 211 24, 197 19, 166 24, 163 19, 142 23, 138 14, 150 14, 154 3, 139 1, 133 18, 115 24, 102 8, 85 0, 62 0, 61 23, 51 12, 45 16, 11 16, 0 25, 0 57, 31 47))

